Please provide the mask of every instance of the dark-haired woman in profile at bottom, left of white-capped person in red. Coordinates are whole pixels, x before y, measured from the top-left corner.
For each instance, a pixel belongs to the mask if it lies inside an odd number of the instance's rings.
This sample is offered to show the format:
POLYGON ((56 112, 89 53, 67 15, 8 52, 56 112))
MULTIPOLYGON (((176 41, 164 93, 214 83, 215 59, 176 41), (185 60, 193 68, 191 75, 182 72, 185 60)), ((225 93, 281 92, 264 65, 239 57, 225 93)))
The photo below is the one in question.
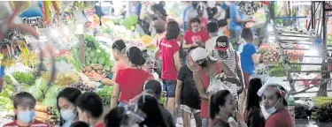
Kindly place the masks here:
MULTIPOLYGON (((235 112, 234 98, 228 90, 221 90, 211 95, 210 99, 211 127, 230 127, 243 124, 242 116, 235 112), (238 123, 235 122, 235 118, 238 123)), ((245 124, 245 123, 244 123, 245 124)))

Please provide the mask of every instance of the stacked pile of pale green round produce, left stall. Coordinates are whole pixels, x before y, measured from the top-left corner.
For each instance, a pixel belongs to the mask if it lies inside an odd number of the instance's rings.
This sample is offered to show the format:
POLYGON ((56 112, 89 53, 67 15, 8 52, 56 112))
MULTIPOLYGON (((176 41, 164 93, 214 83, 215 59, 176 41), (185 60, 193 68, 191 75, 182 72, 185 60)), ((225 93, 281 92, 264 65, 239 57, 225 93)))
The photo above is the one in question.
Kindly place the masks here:
POLYGON ((105 49, 99 47, 99 41, 90 37, 88 39, 89 41, 85 41, 85 65, 101 64, 105 71, 111 71, 113 63, 110 58, 111 55, 106 53, 105 49), (93 42, 90 40, 93 40, 93 42))

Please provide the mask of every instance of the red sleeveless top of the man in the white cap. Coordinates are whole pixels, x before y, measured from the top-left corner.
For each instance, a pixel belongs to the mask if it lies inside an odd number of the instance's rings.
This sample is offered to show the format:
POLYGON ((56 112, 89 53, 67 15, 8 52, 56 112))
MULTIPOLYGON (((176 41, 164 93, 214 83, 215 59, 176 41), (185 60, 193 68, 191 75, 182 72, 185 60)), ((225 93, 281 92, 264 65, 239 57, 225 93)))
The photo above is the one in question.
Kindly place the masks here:
MULTIPOLYGON (((210 78, 205 75, 204 71, 202 70, 202 67, 199 67, 199 72, 202 77, 203 86, 205 90, 207 90, 207 88, 210 86, 210 78)), ((201 117, 209 118, 209 101, 202 100, 201 117)))

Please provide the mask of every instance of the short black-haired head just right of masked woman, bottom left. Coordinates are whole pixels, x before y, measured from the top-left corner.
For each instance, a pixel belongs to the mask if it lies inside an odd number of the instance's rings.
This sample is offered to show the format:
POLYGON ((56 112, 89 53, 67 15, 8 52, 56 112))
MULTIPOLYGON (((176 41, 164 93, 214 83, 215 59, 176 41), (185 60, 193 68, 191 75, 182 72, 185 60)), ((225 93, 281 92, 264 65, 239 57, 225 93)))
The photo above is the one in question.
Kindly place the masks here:
POLYGON ((97 93, 82 93, 76 100, 76 105, 80 121, 93 127, 104 127, 103 101, 97 93))

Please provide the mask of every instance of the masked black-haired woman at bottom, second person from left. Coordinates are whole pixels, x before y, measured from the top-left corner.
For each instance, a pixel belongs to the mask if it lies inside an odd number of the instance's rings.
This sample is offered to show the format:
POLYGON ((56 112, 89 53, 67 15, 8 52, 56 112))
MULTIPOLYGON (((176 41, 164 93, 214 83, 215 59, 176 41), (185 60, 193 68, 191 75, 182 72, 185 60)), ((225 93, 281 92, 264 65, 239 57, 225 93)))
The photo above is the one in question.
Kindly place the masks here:
POLYGON ((62 125, 63 127, 69 127, 71 123, 79 119, 75 101, 80 95, 81 91, 73 87, 66 87, 58 93, 58 111, 60 112, 61 118, 66 122, 62 125))

